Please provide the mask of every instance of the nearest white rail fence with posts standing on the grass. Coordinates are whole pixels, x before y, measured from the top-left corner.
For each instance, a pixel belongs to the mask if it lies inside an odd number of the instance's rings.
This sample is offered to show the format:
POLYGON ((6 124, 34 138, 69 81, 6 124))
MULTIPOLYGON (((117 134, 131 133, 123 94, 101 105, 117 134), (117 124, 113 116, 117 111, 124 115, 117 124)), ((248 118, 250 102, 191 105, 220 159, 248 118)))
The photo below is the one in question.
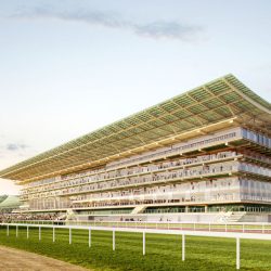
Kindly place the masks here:
POLYGON ((142 254, 146 254, 146 233, 155 234, 175 234, 182 236, 182 260, 185 260, 185 236, 202 236, 202 237, 223 237, 236 240, 236 269, 240 269, 241 258, 241 240, 266 240, 271 241, 271 234, 262 233, 243 233, 243 232, 211 232, 211 231, 189 231, 189 230, 165 230, 165 229, 134 229, 134 228, 109 228, 109 227, 86 227, 86 225, 57 225, 57 224, 26 224, 26 223, 0 223, 7 227, 7 236, 10 236, 10 227, 15 227, 15 234, 18 237, 20 228, 26 228, 26 237, 29 238, 29 228, 38 228, 39 241, 41 241, 42 228, 52 229, 52 242, 55 242, 55 229, 68 230, 68 243, 73 243, 73 230, 86 230, 89 232, 88 244, 91 247, 91 231, 109 231, 112 232, 112 247, 116 250, 116 231, 142 233, 142 254))

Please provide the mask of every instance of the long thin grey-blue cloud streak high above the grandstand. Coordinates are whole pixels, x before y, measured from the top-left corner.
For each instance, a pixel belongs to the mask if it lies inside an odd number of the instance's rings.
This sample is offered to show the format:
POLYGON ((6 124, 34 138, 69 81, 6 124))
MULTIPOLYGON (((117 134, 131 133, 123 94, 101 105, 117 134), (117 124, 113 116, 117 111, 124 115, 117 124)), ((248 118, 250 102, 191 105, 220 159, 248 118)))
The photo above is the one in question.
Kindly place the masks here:
POLYGON ((21 8, 12 15, 17 18, 56 18, 67 22, 81 22, 89 25, 100 25, 115 29, 126 29, 133 34, 159 39, 179 39, 182 41, 194 41, 204 31, 203 27, 179 23, 177 21, 155 21, 151 23, 137 23, 124 20, 114 12, 101 12, 88 9, 59 9, 50 5, 35 8, 21 8))

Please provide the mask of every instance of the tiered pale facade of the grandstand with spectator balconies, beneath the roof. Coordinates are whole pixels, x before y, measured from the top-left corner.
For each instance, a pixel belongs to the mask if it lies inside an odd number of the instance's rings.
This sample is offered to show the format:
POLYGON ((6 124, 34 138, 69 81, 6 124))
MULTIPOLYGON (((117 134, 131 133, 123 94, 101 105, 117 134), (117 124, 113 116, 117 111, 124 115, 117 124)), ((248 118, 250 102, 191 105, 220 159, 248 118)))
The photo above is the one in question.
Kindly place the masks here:
POLYGON ((100 169, 27 183, 21 199, 33 210, 271 204, 271 158, 261 147, 271 149, 271 139, 232 128, 100 169), (214 146, 219 149, 210 151, 214 146))

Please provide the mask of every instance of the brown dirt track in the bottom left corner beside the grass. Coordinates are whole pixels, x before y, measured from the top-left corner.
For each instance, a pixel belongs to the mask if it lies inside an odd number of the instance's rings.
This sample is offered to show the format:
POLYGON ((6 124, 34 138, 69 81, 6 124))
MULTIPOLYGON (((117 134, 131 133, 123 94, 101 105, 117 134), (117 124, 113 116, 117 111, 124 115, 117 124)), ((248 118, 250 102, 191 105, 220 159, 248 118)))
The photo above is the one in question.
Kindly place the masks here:
POLYGON ((38 254, 0 246, 1 271, 87 271, 61 260, 55 260, 38 254))

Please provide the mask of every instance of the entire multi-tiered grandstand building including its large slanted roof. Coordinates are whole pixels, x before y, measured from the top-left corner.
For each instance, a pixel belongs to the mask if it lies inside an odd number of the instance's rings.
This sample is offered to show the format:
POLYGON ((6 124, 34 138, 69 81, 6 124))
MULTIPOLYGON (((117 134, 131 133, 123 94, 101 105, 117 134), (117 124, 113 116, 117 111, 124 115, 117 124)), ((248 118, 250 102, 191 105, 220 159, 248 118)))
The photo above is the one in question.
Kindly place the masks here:
POLYGON ((28 214, 271 221, 271 104, 227 75, 0 177, 22 185, 28 214))

